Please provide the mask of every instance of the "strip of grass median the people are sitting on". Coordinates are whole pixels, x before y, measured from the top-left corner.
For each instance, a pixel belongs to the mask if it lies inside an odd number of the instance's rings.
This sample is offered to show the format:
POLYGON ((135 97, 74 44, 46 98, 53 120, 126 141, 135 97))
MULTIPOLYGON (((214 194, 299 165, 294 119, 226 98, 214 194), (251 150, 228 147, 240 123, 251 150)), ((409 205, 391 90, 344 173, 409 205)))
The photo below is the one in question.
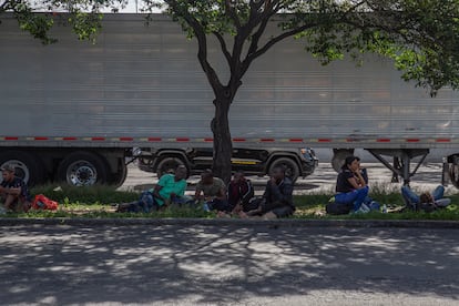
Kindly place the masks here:
MULTIPOLYGON (((44 194, 59 202, 58 211, 30 211, 28 213, 9 213, 0 217, 86 217, 86 218, 214 218, 214 212, 207 213, 200 207, 166 208, 149 214, 115 213, 115 204, 136 201, 137 192, 121 192, 110 186, 70 187, 54 190, 55 186, 40 186, 32 188, 32 195, 44 194)), ((452 204, 432 213, 424 212, 371 212, 368 214, 333 216, 325 213, 325 205, 333 194, 296 195, 294 202, 296 212, 293 218, 305 220, 443 220, 459 221, 459 194, 450 195, 452 204)), ((370 195, 381 204, 389 204, 394 211, 402 206, 401 195, 388 188, 374 188, 370 195)))

